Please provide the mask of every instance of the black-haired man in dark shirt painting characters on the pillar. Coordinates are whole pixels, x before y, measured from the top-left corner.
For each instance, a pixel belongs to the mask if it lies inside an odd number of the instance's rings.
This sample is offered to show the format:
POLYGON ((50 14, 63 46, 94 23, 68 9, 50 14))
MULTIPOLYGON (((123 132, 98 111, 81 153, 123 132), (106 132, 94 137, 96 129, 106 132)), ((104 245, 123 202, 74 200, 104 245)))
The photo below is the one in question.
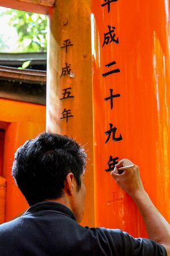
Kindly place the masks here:
POLYGON ((49 133, 25 142, 15 153, 12 175, 30 208, 0 226, 0 255, 169 256, 169 224, 145 192, 138 166, 118 174, 119 167, 129 164, 128 159, 121 160, 112 176, 141 210, 152 240, 118 229, 80 226, 86 194, 83 147, 49 133))

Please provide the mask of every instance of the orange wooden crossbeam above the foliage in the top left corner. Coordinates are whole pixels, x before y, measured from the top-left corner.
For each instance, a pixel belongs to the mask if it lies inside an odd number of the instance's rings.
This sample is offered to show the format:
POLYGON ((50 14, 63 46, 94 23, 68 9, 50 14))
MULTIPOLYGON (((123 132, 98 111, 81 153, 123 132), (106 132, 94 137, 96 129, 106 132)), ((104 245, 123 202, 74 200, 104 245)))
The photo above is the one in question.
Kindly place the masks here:
POLYGON ((54 0, 0 0, 0 6, 48 15, 53 9, 54 0))

